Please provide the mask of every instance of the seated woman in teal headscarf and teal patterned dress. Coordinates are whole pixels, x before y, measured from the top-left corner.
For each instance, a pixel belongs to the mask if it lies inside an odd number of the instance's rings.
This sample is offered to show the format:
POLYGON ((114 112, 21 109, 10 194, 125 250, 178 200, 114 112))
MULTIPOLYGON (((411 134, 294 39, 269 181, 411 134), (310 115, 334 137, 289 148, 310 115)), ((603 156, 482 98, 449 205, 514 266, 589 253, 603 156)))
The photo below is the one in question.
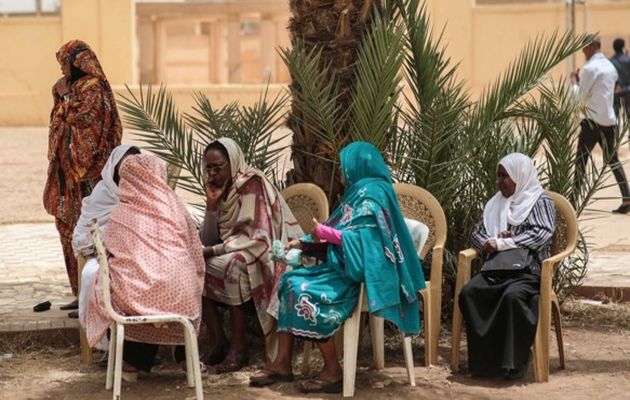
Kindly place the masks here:
MULTIPOLYGON (((285 273, 280 282, 278 356, 250 378, 252 386, 293 380, 293 337, 315 340, 324 366, 300 384, 303 392, 341 392, 342 369, 331 337, 350 317, 365 283, 370 313, 392 321, 405 334, 420 331, 418 296, 425 287, 416 249, 380 152, 356 142, 340 154, 346 190, 339 207, 315 233, 326 262, 285 273)), ((303 248, 311 238, 290 242, 303 248)))

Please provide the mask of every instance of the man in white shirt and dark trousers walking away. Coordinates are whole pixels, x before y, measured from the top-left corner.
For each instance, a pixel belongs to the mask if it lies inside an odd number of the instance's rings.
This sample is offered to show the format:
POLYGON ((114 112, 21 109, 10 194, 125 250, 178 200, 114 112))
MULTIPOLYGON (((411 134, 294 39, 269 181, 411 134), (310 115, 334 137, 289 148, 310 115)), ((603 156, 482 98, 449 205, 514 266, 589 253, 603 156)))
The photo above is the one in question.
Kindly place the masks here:
POLYGON ((595 38, 591 44, 584 47, 582 52, 586 56, 586 64, 581 73, 578 74, 578 70, 571 74, 574 90, 586 105, 585 118, 580 122, 581 130, 575 166, 576 193, 579 193, 582 186, 588 157, 595 145, 599 143, 604 151, 604 159, 612 155, 609 166, 615 175, 623 199, 621 206, 613 212, 627 214, 630 212, 630 189, 616 151, 617 118, 613 108, 617 70, 602 54, 599 38, 595 38))

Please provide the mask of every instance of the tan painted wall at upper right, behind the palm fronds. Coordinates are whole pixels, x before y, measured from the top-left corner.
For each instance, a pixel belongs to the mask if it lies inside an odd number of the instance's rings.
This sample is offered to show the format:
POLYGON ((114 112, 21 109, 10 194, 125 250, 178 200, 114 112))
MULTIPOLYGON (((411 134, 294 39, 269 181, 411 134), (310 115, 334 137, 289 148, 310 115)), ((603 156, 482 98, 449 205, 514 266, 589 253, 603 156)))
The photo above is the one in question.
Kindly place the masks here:
MULTIPOLYGON (((477 6, 474 0, 430 0, 434 27, 447 24, 444 42, 453 61, 461 61, 460 77, 479 92, 516 58, 528 40, 537 34, 566 29, 564 4, 520 4, 477 6)), ((612 53, 612 41, 626 39, 630 47, 630 1, 588 0, 586 28, 599 32, 602 48, 612 53)), ((576 7, 576 31, 584 32, 583 6, 576 7)), ((576 66, 584 64, 581 54, 576 66)), ((554 78, 566 74, 567 65, 553 72, 554 78)))

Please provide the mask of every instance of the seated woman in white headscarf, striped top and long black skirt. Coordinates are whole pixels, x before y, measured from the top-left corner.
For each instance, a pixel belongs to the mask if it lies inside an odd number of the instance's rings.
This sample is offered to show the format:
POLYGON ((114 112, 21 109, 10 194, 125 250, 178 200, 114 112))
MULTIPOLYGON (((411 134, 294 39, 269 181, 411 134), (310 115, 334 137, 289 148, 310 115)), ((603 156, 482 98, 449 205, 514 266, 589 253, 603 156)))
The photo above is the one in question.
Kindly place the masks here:
POLYGON ((501 276, 477 274, 462 289, 468 367, 473 376, 521 378, 536 336, 540 264, 550 255, 556 225, 553 200, 545 194, 531 158, 519 153, 497 167, 499 192, 486 203, 471 244, 484 257, 513 248, 530 249, 533 262, 501 276))

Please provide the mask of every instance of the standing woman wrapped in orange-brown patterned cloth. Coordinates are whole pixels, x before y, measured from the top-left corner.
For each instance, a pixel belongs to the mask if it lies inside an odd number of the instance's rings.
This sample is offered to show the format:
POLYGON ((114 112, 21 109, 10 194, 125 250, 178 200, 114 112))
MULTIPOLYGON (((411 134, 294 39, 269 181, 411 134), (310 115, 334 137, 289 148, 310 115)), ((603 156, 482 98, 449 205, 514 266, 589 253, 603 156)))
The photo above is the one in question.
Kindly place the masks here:
MULTIPOLYGON (((71 40, 57 51, 63 76, 53 86, 54 106, 48 134, 48 178, 44 208, 55 217, 72 294, 77 295, 78 266, 72 251, 72 232, 81 200, 101 179, 101 170, 120 145, 122 125, 96 54, 71 40)), ((78 301, 62 306, 76 309, 78 301)))

